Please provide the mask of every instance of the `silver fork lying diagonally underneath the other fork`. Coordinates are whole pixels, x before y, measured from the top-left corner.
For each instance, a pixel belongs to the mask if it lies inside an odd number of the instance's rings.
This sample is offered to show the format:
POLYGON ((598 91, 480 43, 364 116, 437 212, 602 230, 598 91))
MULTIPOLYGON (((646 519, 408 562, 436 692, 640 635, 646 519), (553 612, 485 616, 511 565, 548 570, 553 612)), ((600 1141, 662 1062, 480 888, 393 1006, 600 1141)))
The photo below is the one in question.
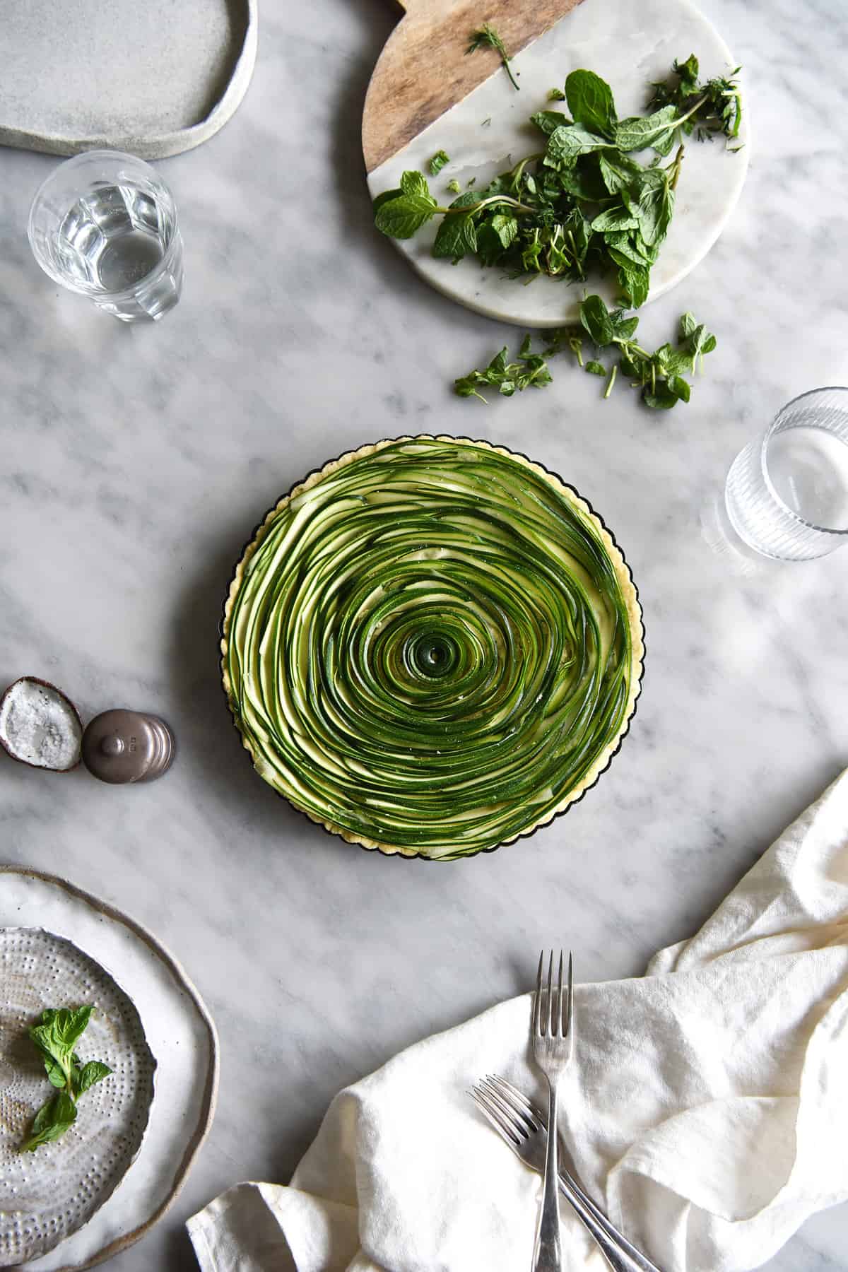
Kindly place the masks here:
MULTIPOLYGON (((478 1082, 470 1094, 479 1110, 516 1156, 531 1170, 542 1174, 548 1138, 542 1110, 515 1086, 495 1074, 478 1082)), ((613 1272, 660 1272, 656 1263, 619 1233, 564 1168, 559 1170, 559 1191, 598 1243, 613 1272)))

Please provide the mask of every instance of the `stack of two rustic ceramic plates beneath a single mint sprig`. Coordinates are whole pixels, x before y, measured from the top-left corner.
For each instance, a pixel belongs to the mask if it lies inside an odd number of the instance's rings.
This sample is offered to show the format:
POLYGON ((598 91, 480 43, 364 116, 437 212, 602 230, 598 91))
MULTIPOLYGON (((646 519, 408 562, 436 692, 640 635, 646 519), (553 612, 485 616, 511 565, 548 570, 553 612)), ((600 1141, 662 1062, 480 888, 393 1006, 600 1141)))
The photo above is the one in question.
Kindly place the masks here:
POLYGON ((209 1132, 217 1071, 209 1011, 149 931, 64 879, 0 865, 0 1267, 81 1272, 144 1236, 209 1132), (75 1001, 99 1009, 80 1056, 114 1077, 80 1098, 65 1138, 19 1159, 50 1094, 25 1025, 75 1001))

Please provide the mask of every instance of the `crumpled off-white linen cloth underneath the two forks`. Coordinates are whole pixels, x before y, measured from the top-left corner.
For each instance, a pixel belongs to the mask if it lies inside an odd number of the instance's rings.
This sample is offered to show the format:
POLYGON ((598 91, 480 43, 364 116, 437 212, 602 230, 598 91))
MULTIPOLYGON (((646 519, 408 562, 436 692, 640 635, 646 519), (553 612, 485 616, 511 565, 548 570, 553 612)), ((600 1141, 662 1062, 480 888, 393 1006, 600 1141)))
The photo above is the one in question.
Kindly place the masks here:
MULTIPOLYGON (((576 988, 561 1130, 587 1189, 664 1272, 765 1263, 848 1199, 848 771, 689 941, 641 979, 576 988)), ((540 1180, 467 1090, 542 1100, 524 995, 336 1096, 287 1188, 239 1184, 188 1222, 203 1272, 515 1272, 540 1180)), ((566 1203, 566 1266, 606 1267, 566 1203)))

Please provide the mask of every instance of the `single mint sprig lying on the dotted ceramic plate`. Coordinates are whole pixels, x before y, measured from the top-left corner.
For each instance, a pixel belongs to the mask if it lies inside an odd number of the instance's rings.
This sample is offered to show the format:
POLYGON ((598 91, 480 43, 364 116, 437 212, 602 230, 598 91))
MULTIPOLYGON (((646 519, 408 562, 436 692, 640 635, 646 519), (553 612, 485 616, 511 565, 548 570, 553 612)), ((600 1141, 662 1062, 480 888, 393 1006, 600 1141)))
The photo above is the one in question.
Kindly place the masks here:
POLYGON ((34 1152, 42 1144, 58 1140, 76 1121, 76 1102, 95 1082, 112 1072, 99 1060, 83 1063, 74 1049, 85 1033, 94 1007, 47 1007, 41 1021, 31 1025, 29 1037, 41 1052, 47 1077, 57 1088, 36 1113, 29 1135, 20 1145, 22 1152, 34 1152))

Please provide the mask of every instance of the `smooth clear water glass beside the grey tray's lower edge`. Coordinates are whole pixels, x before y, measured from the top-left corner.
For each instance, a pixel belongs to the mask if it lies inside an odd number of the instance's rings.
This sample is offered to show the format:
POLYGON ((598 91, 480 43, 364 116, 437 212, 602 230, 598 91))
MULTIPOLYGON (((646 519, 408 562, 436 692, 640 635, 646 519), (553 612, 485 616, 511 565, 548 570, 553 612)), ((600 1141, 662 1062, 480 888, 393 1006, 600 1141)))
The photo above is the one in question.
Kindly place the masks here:
POLYGON ((121 322, 156 322, 179 300, 183 243, 159 174, 121 150, 86 150, 47 178, 29 212, 42 270, 121 322))

